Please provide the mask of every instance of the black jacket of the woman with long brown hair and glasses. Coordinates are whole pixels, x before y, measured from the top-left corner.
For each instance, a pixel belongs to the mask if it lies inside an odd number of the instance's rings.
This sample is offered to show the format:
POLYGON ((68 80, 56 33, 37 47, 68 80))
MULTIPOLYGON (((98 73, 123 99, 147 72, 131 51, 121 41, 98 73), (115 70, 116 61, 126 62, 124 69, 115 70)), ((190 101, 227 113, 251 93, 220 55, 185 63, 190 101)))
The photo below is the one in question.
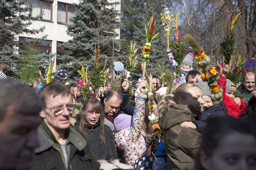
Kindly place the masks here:
MULTIPOLYGON (((79 126, 76 126, 76 128, 79 129, 79 126)), ((95 160, 118 159, 116 148, 115 148, 114 136, 109 126, 104 125, 105 143, 101 143, 102 140, 100 138, 99 124, 95 126, 91 126, 87 124, 84 127, 84 131, 87 134, 85 138, 86 138, 86 141, 88 142, 90 152, 93 155, 95 160)))

